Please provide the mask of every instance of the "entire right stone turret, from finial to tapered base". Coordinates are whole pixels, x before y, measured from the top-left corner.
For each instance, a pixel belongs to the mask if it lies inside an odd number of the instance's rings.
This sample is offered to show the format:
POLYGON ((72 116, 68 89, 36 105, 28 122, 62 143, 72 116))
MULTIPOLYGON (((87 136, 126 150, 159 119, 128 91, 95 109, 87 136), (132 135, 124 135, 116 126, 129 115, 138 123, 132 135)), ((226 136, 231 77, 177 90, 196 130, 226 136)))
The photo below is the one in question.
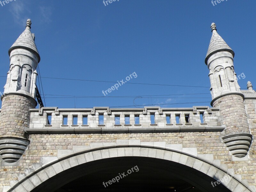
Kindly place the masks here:
POLYGON ((222 139, 232 155, 244 157, 250 148, 252 135, 247 122, 244 95, 240 91, 234 70, 234 51, 217 33, 212 23, 212 38, 205 58, 209 68, 213 107, 220 107, 226 129, 222 139))

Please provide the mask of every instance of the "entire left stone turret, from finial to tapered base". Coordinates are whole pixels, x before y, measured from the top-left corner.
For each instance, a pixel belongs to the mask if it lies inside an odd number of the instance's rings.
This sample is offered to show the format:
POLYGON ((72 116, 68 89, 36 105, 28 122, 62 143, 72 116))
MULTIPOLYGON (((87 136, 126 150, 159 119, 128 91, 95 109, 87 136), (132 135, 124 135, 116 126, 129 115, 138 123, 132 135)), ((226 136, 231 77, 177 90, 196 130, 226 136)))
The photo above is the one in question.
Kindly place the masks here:
POLYGON ((30 141, 24 129, 29 124, 29 109, 37 105, 36 68, 40 56, 30 28, 28 19, 26 29, 9 49, 10 69, 0 116, 0 155, 7 163, 18 161, 28 147, 30 141))

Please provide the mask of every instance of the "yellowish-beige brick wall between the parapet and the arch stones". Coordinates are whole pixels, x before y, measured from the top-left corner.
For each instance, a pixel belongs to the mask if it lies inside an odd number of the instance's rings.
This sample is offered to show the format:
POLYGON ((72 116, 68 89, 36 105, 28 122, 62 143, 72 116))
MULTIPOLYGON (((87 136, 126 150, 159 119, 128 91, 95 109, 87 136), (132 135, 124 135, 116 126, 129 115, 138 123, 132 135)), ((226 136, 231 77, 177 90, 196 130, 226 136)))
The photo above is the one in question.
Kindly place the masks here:
MULTIPOLYGON (((254 126, 255 127, 255 126, 254 126)), ((255 130, 255 129, 254 129, 255 130)), ((255 142, 252 143, 249 161, 232 161, 228 149, 220 138, 220 132, 187 133, 120 133, 120 134, 52 134, 30 135, 33 142, 20 159, 19 166, 5 166, 0 169, 0 191, 9 186, 10 180, 17 180, 16 174, 24 173, 33 163, 39 163, 40 157, 57 156, 58 149, 73 149, 73 146, 89 145, 91 142, 116 142, 117 139, 140 139, 141 142, 165 141, 166 144, 182 144, 182 147, 196 147, 198 154, 213 154, 221 164, 226 164, 234 171, 245 166, 248 170, 240 171, 242 179, 256 186, 255 178, 255 142)), ((1 163, 1 162, 0 162, 1 163)))

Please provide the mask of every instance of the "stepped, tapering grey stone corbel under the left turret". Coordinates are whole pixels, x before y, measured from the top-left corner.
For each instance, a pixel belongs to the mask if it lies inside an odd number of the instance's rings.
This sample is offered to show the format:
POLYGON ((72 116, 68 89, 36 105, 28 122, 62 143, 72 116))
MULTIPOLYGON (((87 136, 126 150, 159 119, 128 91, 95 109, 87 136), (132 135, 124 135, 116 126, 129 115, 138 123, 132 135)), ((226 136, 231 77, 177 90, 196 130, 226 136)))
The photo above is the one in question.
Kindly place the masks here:
POLYGON ((0 138, 0 155, 6 163, 14 163, 20 159, 30 141, 21 138, 0 138))

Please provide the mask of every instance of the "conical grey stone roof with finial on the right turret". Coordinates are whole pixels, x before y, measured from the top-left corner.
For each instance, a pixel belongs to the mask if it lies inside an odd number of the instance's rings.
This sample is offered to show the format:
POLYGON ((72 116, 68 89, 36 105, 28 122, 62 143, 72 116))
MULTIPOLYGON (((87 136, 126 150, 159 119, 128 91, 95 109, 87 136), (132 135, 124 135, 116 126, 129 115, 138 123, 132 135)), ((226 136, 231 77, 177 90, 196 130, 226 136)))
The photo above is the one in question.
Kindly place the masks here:
POLYGON ((217 33, 215 23, 212 23, 212 38, 209 44, 209 48, 205 58, 205 64, 207 65, 208 58, 214 54, 215 52, 219 51, 228 51, 230 52, 233 57, 235 56, 234 51, 228 46, 228 44, 222 39, 222 37, 217 33))

